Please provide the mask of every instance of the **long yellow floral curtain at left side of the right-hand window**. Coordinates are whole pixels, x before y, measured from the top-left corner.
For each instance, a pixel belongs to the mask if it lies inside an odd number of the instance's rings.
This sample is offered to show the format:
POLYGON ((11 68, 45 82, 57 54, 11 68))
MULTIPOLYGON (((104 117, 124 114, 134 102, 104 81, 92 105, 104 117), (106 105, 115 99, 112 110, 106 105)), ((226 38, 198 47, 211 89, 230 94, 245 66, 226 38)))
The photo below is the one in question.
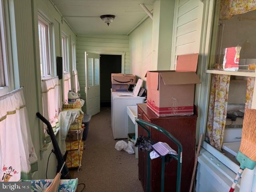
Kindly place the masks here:
POLYGON ((222 147, 226 124, 229 83, 230 75, 212 74, 206 141, 218 150, 222 147))

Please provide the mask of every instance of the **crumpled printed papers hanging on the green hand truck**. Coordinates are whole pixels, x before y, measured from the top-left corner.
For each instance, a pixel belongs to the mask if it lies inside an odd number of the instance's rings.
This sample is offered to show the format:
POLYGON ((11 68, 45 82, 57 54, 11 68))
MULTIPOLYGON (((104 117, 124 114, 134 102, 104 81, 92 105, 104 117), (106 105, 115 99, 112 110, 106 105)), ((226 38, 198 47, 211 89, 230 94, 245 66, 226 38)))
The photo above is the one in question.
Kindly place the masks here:
POLYGON ((152 145, 154 149, 150 152, 150 158, 155 159, 158 158, 160 155, 165 156, 167 154, 171 155, 178 155, 175 150, 173 150, 167 143, 157 142, 156 144, 152 145))

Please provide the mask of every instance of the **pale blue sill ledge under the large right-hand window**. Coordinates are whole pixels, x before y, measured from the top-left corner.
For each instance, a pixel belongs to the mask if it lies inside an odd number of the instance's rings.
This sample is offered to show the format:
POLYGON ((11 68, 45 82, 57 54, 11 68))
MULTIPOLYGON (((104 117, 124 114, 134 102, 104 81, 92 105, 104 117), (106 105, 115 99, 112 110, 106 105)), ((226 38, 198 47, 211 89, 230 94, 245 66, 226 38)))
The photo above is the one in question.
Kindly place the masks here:
POLYGON ((219 150, 212 147, 207 142, 202 142, 202 147, 206 149, 209 153, 211 153, 213 156, 215 156, 220 162, 222 162, 224 165, 226 165, 228 168, 230 168, 233 172, 237 172, 239 170, 239 166, 232 162, 227 156, 222 154, 219 150))

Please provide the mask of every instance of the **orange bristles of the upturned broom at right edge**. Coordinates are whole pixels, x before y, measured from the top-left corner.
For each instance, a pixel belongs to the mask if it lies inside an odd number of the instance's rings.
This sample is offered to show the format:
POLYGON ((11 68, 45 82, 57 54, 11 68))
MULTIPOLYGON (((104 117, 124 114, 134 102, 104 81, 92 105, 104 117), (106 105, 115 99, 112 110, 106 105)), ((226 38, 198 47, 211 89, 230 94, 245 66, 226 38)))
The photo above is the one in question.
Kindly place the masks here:
POLYGON ((246 109, 239 151, 256 161, 256 109, 246 109))

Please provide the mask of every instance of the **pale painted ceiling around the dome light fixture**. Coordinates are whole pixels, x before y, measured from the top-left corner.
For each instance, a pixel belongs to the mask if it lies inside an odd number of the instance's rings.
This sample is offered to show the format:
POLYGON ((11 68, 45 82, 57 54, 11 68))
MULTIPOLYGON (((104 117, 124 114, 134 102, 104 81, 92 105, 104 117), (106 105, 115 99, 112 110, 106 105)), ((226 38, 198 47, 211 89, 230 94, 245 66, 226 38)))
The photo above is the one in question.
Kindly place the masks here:
POLYGON ((52 0, 77 34, 127 34, 146 13, 153 9, 155 0, 52 0), (116 18, 107 26, 100 15, 112 14, 116 18))

